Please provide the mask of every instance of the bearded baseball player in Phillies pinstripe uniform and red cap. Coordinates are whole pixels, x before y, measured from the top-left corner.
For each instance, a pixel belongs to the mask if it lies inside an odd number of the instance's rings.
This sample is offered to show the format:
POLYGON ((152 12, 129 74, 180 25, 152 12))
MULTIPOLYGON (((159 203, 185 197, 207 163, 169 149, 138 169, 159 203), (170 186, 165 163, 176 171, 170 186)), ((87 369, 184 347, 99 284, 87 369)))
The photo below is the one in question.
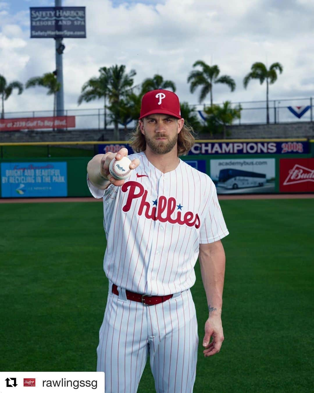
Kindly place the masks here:
POLYGON ((221 239, 228 230, 210 177, 179 159, 193 144, 177 95, 153 90, 142 98, 130 177, 115 180, 108 171, 127 149, 88 163, 90 192, 104 204, 109 292, 97 371, 105 372, 108 393, 136 392, 148 356, 157 392, 193 391, 198 335, 190 288, 197 257, 208 303, 204 356, 221 348, 221 239))

